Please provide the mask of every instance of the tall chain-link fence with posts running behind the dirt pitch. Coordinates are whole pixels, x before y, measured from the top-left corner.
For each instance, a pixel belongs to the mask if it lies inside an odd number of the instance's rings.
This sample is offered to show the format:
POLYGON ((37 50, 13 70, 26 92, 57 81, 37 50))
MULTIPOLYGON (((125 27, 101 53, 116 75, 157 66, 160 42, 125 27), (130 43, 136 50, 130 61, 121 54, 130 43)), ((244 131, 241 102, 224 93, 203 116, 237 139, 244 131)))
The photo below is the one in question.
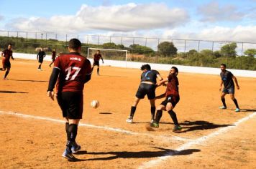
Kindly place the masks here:
POLYGON ((126 49, 129 54, 136 55, 132 61, 157 62, 166 64, 183 64, 191 66, 219 67, 220 63, 229 64, 229 68, 256 70, 255 56, 246 57, 247 49, 256 49, 256 43, 220 42, 196 39, 160 39, 146 37, 118 37, 88 34, 57 34, 53 32, 13 32, 0 31, 0 48, 13 44, 14 52, 37 53, 43 47, 46 52, 56 49, 66 52, 68 41, 80 39, 83 43, 82 53, 87 54, 88 47, 126 49), (158 50, 163 42, 172 42, 176 51, 158 50), (235 43, 234 52, 222 52, 224 46, 235 43), (142 56, 137 56, 142 55, 142 56))

